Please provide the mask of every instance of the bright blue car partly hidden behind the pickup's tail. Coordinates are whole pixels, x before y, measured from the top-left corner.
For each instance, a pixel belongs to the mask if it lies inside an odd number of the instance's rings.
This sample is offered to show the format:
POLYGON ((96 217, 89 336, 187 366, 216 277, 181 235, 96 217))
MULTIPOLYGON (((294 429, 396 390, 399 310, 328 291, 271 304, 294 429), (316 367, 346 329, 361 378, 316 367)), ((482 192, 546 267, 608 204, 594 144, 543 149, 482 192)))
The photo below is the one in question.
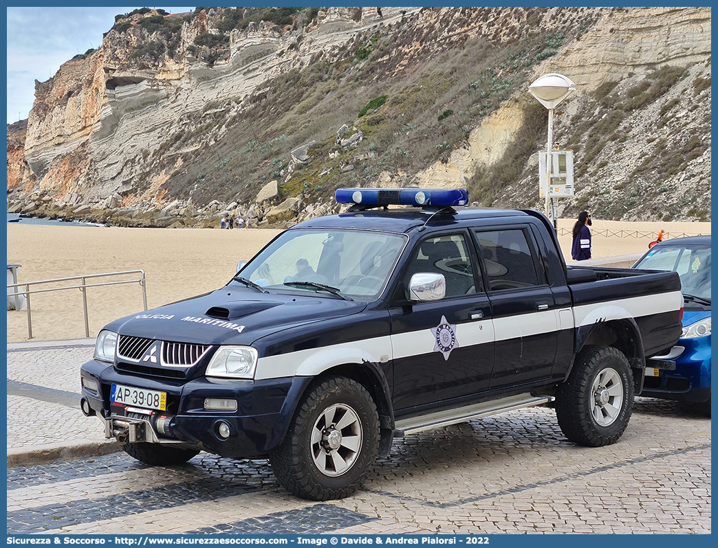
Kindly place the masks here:
POLYGON ((662 362, 645 369, 642 396, 691 402, 711 416, 711 237, 691 236, 653 245, 633 268, 675 270, 685 305, 683 333, 662 362), (671 362, 675 362, 675 369, 671 362), (664 368, 665 367, 665 368, 664 368), (666 369, 667 368, 667 369, 666 369))

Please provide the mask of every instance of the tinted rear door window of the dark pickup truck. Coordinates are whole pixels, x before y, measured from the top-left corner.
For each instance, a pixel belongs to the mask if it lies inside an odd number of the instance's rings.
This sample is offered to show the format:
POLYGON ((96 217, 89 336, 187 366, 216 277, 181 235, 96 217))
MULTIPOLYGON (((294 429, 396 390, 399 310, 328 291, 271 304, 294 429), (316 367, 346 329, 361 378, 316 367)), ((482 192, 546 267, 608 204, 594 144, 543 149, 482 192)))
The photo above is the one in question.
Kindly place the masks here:
POLYGON ((539 285, 536 264, 521 229, 476 232, 486 267, 489 290, 539 285))

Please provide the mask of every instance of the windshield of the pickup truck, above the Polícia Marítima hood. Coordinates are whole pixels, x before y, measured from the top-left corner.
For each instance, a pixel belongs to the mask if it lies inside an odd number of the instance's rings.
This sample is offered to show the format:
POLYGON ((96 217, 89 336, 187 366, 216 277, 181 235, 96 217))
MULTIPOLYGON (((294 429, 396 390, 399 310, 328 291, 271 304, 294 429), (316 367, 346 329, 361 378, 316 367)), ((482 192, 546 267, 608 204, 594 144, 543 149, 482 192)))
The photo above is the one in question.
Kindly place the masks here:
POLYGON ((270 290, 336 289, 345 298, 369 300, 386 286, 405 244, 404 236, 370 230, 287 230, 238 276, 270 290))

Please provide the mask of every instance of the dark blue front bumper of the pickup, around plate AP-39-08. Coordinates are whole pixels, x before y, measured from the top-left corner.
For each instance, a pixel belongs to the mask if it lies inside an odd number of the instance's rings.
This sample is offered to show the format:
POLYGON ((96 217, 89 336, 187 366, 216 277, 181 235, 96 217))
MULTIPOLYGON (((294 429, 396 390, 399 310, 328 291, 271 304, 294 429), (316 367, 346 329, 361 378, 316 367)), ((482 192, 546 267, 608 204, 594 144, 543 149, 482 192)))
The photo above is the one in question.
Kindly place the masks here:
POLYGON ((83 399, 91 414, 104 422, 107 438, 123 443, 174 443, 228 458, 258 458, 276 448, 284 438, 294 406, 309 377, 285 377, 261 381, 208 379, 187 382, 151 379, 116 372, 90 360, 80 369, 82 377, 95 379, 100 392, 83 386, 83 399), (137 410, 110 402, 112 384, 167 393, 167 411, 137 410), (236 411, 205 410, 206 398, 236 400, 236 411), (220 425, 229 432, 220 435, 220 425))

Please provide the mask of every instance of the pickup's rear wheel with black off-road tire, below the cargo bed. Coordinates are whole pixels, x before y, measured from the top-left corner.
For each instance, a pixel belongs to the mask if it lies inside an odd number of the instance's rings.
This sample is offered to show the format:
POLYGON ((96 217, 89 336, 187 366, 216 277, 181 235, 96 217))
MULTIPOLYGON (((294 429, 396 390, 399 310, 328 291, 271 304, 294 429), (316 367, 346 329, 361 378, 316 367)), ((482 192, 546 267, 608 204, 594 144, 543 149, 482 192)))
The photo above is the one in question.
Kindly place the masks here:
POLYGON ((561 431, 579 445, 610 445, 623 435, 632 411, 633 374, 626 356, 611 346, 585 346, 556 393, 561 431))

